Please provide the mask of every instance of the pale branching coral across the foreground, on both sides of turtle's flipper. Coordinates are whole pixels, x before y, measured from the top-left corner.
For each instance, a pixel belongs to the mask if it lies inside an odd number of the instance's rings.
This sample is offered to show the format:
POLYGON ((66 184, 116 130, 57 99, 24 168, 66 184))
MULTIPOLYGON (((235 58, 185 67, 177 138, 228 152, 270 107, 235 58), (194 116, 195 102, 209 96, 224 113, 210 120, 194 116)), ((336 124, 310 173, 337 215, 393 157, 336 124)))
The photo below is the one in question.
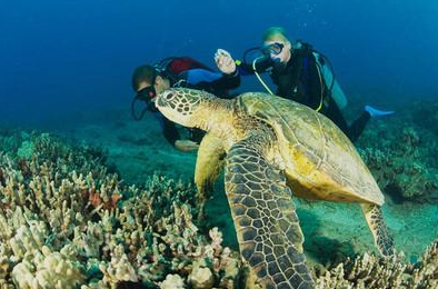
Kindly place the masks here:
MULTIPOLYGON (((0 137, 0 288, 256 288, 221 232, 193 221, 191 183, 125 183, 102 150, 49 134, 0 137)), ((436 288, 437 243, 417 263, 365 255, 322 268, 317 286, 436 288)))

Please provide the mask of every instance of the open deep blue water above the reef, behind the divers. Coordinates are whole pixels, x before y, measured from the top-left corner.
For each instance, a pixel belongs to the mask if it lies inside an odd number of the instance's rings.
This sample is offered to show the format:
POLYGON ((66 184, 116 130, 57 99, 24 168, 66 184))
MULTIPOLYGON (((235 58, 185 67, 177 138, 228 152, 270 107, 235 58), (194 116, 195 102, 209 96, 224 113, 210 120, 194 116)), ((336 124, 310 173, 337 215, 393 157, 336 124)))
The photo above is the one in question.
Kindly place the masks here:
POLYGON ((270 26, 327 54, 347 92, 436 98, 437 16, 435 0, 2 1, 0 121, 128 108, 135 67, 168 56, 213 67, 217 48, 240 58, 270 26))

